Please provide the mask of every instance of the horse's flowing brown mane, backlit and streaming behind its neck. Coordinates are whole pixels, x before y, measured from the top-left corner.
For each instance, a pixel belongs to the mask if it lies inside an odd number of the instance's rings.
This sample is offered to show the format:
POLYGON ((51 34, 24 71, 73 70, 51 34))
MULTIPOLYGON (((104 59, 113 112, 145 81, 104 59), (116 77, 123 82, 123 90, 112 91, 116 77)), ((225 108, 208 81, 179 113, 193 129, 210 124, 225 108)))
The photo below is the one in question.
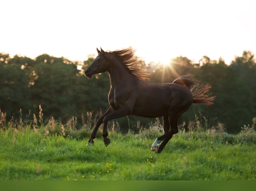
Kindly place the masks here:
POLYGON ((130 72, 135 75, 137 78, 146 81, 149 73, 142 69, 141 63, 138 62, 138 59, 134 56, 134 50, 132 48, 127 48, 123 50, 116 50, 109 52, 113 56, 118 57, 121 62, 130 70, 130 72))

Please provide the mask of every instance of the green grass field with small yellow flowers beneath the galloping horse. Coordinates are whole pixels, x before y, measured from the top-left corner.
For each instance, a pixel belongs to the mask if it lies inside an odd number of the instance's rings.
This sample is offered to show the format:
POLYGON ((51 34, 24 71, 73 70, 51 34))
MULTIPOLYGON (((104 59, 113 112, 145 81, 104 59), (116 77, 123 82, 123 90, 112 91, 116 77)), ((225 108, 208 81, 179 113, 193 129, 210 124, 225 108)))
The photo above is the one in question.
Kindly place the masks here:
POLYGON ((47 128, 49 124, 0 129, 0 180, 256 178, 256 133, 249 127, 237 135, 210 130, 179 132, 161 154, 150 151, 154 139, 162 134, 153 127, 138 134, 110 129, 108 147, 101 136, 87 147, 90 129, 73 130, 73 135, 66 132, 64 137, 47 128))

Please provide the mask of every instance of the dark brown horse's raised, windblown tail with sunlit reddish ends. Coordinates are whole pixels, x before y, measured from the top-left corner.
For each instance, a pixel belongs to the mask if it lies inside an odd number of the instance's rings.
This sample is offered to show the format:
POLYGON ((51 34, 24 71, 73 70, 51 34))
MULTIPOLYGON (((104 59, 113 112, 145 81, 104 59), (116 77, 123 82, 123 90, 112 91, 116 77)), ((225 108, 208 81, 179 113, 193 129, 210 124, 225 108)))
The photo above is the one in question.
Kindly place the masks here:
POLYGON ((197 80, 194 79, 193 75, 188 74, 188 75, 181 76, 181 77, 177 78, 172 83, 186 86, 189 89, 191 86, 194 86, 191 89, 191 93, 193 95, 193 103, 212 105, 215 96, 209 97, 209 95, 211 95, 211 94, 207 94, 207 92, 210 90, 210 88, 212 88, 212 86, 197 85, 196 82, 197 82, 197 80), (195 85, 197 85, 197 86, 195 86, 195 85))

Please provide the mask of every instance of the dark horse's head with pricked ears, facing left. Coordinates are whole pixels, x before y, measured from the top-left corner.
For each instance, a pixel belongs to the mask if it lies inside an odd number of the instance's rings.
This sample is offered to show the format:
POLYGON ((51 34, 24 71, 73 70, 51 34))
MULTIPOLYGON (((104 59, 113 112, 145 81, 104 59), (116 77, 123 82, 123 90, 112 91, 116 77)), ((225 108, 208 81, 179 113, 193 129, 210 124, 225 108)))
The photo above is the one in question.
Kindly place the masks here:
POLYGON ((110 66, 109 53, 97 48, 98 56, 93 60, 92 64, 85 70, 85 76, 91 78, 92 75, 104 73, 110 66))

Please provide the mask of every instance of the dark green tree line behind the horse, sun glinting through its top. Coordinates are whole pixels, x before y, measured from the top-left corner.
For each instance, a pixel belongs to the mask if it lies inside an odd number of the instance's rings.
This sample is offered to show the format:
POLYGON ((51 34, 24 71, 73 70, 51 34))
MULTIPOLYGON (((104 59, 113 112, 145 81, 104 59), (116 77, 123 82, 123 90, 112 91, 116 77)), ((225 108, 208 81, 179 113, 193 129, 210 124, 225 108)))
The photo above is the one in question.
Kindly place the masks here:
MULTIPOLYGON (((0 109, 7 119, 33 118, 38 106, 45 118, 67 120, 76 116, 108 108, 110 88, 107 73, 93 76, 88 80, 84 70, 92 63, 93 56, 84 62, 56 58, 47 54, 35 59, 0 53, 0 109), (83 114, 82 114, 83 113, 83 114)), ((150 75, 149 83, 172 82, 178 76, 194 74, 203 84, 212 86, 216 96, 214 105, 192 105, 179 119, 181 126, 188 125, 195 117, 206 121, 206 128, 224 126, 228 132, 238 132, 241 127, 252 124, 256 116, 256 61, 250 51, 235 57, 230 65, 223 59, 211 60, 204 56, 199 63, 186 57, 176 57, 169 65, 145 64, 150 75), (200 112, 200 113, 199 113, 200 112), (203 116, 203 117, 202 117, 203 116), (184 122, 183 122, 184 121, 184 122)), ((0 112, 0 113, 1 113, 0 112)), ((152 119, 151 119, 152 120, 152 119)), ((150 119, 129 116, 118 119, 120 128, 139 125, 147 127, 150 119)))

